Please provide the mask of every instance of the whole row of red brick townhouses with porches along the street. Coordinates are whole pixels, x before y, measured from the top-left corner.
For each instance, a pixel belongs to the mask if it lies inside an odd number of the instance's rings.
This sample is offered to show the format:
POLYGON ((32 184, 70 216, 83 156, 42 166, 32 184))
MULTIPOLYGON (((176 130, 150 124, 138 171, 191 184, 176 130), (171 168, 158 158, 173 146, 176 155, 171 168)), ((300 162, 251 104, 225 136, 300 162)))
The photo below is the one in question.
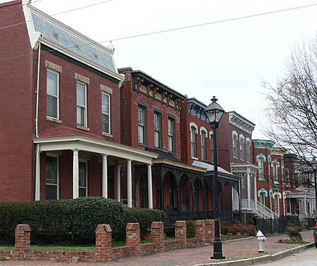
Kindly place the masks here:
MULTIPOLYGON (((111 44, 30 1, 0 4, 0 12, 0 201, 103 196, 164 210, 171 224, 213 217, 213 131, 204 103, 146 72, 117 69, 111 44)), ((234 111, 220 121, 223 220, 298 209, 294 158, 272 141, 252 140, 254 127, 234 111)))

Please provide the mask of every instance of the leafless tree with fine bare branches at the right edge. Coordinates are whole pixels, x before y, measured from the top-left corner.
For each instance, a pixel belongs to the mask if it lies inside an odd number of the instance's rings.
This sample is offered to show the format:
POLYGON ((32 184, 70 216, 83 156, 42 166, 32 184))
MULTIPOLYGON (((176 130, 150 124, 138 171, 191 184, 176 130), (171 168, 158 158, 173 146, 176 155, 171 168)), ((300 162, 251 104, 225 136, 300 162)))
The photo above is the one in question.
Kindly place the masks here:
POLYGON ((309 165, 317 157, 317 37, 294 47, 285 74, 266 88, 267 137, 309 165))

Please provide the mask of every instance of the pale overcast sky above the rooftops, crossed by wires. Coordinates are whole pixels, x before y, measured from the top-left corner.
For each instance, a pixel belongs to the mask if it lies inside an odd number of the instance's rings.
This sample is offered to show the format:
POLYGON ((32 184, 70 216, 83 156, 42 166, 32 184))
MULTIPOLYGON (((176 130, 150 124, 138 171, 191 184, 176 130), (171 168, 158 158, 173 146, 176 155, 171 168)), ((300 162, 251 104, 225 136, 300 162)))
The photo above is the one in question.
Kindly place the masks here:
POLYGON ((265 138, 261 81, 275 84, 293 46, 315 37, 317 28, 317 0, 32 2, 104 46, 113 40, 117 68, 142 70, 206 105, 215 95, 225 110, 235 110, 256 124, 254 139, 265 138), (70 11, 92 4, 96 5, 70 11), (309 7, 270 13, 300 6, 309 7), (65 11, 69 12, 56 15, 65 11), (270 14, 232 20, 260 13, 270 14), (201 24, 206 25, 190 27, 201 24), (187 28, 121 39, 182 27, 187 28))

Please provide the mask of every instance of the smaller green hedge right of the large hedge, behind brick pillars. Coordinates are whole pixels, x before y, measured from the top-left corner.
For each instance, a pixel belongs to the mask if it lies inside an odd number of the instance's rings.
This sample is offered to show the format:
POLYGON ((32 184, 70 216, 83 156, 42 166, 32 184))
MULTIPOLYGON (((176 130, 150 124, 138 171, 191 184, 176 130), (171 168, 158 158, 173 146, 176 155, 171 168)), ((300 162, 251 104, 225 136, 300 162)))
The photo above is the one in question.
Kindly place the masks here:
POLYGON ((151 233, 152 222, 163 222, 162 210, 144 208, 124 208, 124 223, 120 238, 125 238, 125 227, 128 222, 139 222, 141 236, 151 233))

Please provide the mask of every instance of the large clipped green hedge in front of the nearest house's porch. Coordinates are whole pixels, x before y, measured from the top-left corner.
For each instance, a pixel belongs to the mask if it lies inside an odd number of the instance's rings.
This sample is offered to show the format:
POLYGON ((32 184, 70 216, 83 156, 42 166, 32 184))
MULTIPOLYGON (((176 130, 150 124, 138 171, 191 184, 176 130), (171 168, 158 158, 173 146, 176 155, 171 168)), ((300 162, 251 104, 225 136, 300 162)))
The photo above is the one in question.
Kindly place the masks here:
POLYGON ((30 225, 32 243, 92 243, 97 224, 110 224, 116 235, 122 222, 122 205, 108 198, 0 203, 2 243, 14 243, 17 224, 30 225))

